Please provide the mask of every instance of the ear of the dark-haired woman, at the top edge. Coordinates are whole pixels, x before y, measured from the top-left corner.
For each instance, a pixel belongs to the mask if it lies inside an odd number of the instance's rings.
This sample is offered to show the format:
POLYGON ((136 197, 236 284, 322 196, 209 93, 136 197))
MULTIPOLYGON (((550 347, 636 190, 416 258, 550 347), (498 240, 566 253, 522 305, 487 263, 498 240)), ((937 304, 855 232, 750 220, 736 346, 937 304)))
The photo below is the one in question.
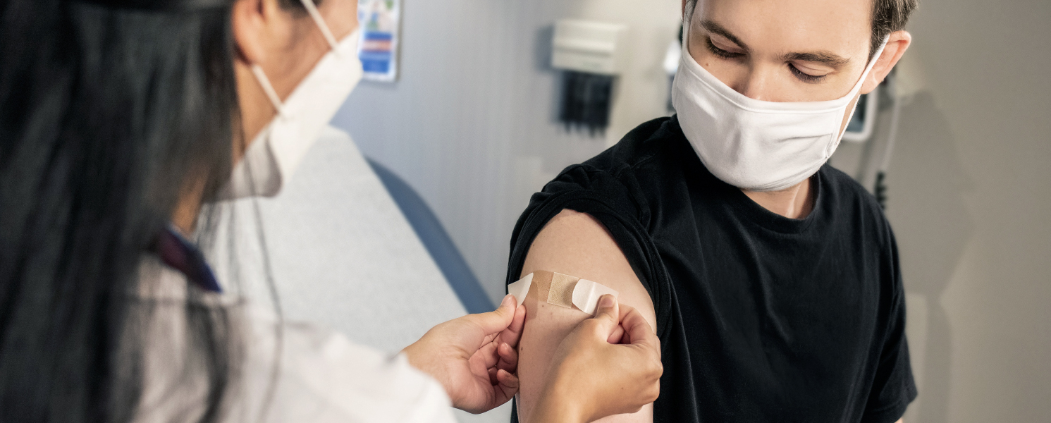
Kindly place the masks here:
POLYGON ((231 26, 238 60, 254 64, 266 60, 272 41, 279 5, 273 0, 238 0, 233 3, 231 26))

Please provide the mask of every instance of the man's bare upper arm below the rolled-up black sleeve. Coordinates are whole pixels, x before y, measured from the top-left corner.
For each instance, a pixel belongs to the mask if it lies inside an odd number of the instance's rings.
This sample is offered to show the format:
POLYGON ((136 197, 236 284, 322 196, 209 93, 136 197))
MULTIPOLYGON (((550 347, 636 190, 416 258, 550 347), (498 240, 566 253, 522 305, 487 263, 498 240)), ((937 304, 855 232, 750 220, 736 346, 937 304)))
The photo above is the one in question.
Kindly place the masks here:
MULTIPOLYGON (((521 276, 550 270, 592 280, 616 290, 621 304, 635 307, 656 330, 657 318, 650 294, 627 263, 605 227, 591 215, 562 210, 540 230, 530 246, 521 276)), ((520 380, 518 412, 527 417, 539 398, 543 377, 555 348, 578 323, 589 318, 580 310, 526 300, 526 328, 518 344, 520 380)), ((653 404, 634 415, 619 415, 601 422, 653 421, 653 404)))

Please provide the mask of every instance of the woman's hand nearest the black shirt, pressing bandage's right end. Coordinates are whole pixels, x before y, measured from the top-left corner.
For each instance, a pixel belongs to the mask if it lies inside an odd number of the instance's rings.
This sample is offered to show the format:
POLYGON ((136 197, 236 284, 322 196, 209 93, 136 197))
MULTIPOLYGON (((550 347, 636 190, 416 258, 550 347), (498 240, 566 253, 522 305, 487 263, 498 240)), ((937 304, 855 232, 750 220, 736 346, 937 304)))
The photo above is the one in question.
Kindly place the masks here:
POLYGON ((530 422, 590 422, 657 400, 660 340, 635 308, 610 295, 555 350, 530 422))

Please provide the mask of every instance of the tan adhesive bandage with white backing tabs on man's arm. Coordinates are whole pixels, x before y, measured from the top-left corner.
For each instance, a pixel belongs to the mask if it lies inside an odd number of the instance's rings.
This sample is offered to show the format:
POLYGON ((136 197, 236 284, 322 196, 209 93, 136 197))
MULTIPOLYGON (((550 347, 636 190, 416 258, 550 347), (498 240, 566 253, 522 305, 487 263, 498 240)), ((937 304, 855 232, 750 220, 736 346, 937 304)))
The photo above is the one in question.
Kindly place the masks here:
POLYGON ((592 316, 595 316, 600 297, 606 294, 617 297, 616 290, 598 282, 548 270, 526 275, 508 285, 508 293, 515 296, 518 305, 526 301, 527 296, 534 296, 537 301, 576 308, 592 316))

